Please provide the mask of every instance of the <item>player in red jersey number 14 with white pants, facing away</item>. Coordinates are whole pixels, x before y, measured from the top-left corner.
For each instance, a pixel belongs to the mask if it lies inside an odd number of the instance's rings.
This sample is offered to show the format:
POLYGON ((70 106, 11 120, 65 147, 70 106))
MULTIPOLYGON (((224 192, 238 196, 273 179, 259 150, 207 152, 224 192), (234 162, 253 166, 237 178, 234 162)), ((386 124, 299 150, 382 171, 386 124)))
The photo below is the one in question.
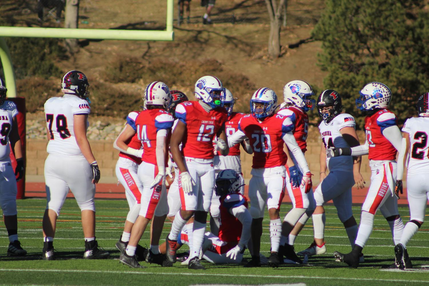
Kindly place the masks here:
MULTIPOLYGON (((154 81, 145 89, 146 110, 140 112, 136 118, 136 132, 138 139, 142 142, 143 157, 139 165, 137 175, 142 182, 139 216, 131 230, 130 241, 119 260, 133 268, 140 268, 135 253, 143 232, 149 221, 154 216, 166 216, 166 187, 165 187, 165 162, 166 148, 168 146, 168 135, 173 126, 173 117, 166 111, 171 103, 171 94, 163 82, 154 81), (158 212, 158 214, 157 214, 158 212)), ((165 217, 164 217, 165 219, 165 217)), ((149 256, 162 258, 159 253, 157 241, 152 235, 149 256)), ((158 238, 159 241, 159 238, 158 238)), ((163 266, 171 266, 164 260, 163 266)))

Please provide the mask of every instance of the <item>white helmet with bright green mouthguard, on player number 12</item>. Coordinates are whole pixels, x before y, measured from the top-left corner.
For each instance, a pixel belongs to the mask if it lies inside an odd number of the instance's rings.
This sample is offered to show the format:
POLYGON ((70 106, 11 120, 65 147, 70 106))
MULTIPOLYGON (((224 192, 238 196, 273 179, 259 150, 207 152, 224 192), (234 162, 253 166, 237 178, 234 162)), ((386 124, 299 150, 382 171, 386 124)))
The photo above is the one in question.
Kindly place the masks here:
POLYGON ((211 75, 205 75, 195 83, 195 98, 202 100, 211 108, 223 106, 222 94, 225 88, 219 78, 211 75))

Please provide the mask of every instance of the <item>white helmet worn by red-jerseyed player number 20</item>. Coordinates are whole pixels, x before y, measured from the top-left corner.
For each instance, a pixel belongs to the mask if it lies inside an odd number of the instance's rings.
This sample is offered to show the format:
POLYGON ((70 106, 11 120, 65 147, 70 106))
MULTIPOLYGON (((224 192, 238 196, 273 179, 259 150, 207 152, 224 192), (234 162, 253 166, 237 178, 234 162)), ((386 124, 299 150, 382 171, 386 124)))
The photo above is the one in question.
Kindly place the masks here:
POLYGON ((264 118, 274 113, 277 105, 277 95, 268 87, 261 87, 250 99, 250 112, 256 118, 264 118), (257 108, 256 104, 263 104, 263 108, 257 108))

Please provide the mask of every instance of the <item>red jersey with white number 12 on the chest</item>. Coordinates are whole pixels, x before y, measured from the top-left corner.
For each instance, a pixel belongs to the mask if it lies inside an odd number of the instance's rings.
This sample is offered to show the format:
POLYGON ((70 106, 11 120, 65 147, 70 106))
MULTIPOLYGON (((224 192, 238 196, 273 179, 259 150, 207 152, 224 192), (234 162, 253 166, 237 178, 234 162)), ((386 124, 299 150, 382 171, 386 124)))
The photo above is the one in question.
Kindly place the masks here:
POLYGON ((209 112, 198 101, 187 101, 176 106, 176 117, 186 124, 182 140, 182 154, 185 157, 213 159, 213 138, 227 120, 225 108, 218 107, 209 112))

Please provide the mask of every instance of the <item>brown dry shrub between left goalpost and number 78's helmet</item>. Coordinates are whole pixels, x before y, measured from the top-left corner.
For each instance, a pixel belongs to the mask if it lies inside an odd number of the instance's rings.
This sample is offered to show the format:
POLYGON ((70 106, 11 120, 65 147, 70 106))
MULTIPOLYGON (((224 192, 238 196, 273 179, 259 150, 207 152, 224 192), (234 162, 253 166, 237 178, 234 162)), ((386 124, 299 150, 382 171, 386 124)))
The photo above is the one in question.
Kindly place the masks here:
POLYGON ((60 96, 60 82, 46 80, 40 77, 28 77, 16 81, 17 96, 25 97, 27 112, 43 110, 43 105, 48 98, 60 96), (57 86, 55 85, 57 84, 57 86), (58 87, 58 88, 53 88, 58 87))

